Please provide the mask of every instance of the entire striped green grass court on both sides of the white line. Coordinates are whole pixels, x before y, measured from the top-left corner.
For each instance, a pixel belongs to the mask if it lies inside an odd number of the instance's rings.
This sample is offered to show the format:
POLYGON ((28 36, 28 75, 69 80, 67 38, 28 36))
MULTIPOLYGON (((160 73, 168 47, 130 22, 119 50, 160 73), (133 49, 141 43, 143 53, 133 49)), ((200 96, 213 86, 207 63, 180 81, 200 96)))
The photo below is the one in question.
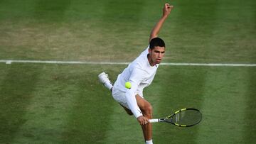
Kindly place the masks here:
MULTIPOLYGON (((0 60, 130 62, 165 1, 0 1, 0 60)), ((172 1, 164 62, 256 63, 256 2, 172 1)), ((97 74, 125 65, 0 63, 0 143, 143 143, 97 74)), ((154 124, 154 143, 255 143, 255 67, 161 66, 154 117, 201 109, 191 128, 154 124)))

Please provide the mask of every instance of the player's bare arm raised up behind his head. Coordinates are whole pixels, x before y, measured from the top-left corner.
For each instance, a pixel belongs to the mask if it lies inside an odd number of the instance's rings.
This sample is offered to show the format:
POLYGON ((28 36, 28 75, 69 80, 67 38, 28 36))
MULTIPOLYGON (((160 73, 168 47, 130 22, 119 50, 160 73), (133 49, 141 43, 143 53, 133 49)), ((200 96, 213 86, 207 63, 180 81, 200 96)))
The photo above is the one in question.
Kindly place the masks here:
POLYGON ((154 26, 153 30, 150 33, 149 42, 152 38, 156 38, 158 36, 158 33, 161 29, 161 27, 164 24, 164 21, 171 13, 171 9, 173 9, 174 6, 171 6, 170 4, 164 4, 163 8, 163 16, 161 16, 160 20, 156 23, 156 26, 154 26))

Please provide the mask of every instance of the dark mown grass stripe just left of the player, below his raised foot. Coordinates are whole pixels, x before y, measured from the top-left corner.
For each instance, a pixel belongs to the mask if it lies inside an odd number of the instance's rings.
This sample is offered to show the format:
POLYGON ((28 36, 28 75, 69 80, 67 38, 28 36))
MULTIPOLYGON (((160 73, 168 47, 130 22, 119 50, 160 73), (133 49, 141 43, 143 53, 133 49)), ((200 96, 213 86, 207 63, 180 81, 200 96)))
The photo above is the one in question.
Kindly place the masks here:
POLYGON ((115 101, 110 92, 98 82, 97 67, 81 70, 78 94, 74 98, 68 123, 62 134, 62 143, 100 143, 105 139, 115 101))

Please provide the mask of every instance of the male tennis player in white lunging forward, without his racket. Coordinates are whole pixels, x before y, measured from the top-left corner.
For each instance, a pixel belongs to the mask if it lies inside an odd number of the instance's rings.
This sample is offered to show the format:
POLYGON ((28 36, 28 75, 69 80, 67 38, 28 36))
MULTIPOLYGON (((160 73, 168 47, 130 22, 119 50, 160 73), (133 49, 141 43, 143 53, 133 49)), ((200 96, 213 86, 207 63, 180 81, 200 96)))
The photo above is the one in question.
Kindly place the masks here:
POLYGON ((112 91, 114 99, 142 125, 146 144, 153 143, 152 126, 149 123, 149 119, 152 118, 152 106, 144 99, 143 89, 153 81, 159 63, 164 57, 165 43, 157 36, 173 7, 169 4, 164 5, 163 15, 151 31, 149 46, 118 75, 114 86, 105 72, 98 75, 100 82, 112 91), (125 88, 125 82, 130 82, 132 87, 125 88))

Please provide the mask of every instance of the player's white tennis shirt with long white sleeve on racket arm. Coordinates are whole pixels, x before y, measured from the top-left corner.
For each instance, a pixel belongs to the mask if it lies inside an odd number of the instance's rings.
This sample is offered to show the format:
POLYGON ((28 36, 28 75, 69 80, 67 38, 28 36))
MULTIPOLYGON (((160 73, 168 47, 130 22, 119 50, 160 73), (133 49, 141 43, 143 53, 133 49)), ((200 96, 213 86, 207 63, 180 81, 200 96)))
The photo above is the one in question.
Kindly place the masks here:
POLYGON ((118 89, 125 92, 129 109, 136 118, 142 116, 142 112, 137 105, 135 95, 139 94, 143 97, 143 89, 151 84, 159 66, 159 64, 154 66, 149 64, 148 54, 149 46, 118 75, 116 81, 119 86, 118 89), (125 88, 125 82, 131 82, 131 89, 125 88))

